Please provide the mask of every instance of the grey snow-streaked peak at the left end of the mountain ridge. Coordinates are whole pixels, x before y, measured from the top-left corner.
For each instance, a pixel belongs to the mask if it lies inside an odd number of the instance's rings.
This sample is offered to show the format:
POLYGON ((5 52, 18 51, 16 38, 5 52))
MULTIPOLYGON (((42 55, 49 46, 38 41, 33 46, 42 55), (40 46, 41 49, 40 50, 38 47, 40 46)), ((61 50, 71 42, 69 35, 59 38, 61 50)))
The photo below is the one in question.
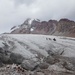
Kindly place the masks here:
MULTIPOLYGON (((30 32, 32 32, 35 28, 34 27, 32 27, 32 24, 33 24, 33 22, 40 22, 40 20, 39 19, 30 19, 30 18, 28 18, 28 19, 26 19, 25 21, 24 21, 24 23, 23 24, 21 24, 21 25, 18 25, 18 26, 13 26, 12 28, 11 28, 11 31, 10 31, 10 33, 30 33, 30 32)), ((35 23, 34 23, 35 24, 35 23)))

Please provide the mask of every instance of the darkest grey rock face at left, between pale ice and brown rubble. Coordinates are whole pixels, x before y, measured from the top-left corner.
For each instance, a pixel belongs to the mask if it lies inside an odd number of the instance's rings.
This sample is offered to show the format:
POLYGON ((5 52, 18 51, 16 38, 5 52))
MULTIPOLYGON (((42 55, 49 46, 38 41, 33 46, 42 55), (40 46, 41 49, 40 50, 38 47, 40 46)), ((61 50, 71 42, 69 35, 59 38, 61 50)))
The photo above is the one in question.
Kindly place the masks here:
MULTIPOLYGON (((24 57, 20 54, 12 53, 0 48, 0 63, 4 64, 21 64, 24 57)), ((1 66, 1 65, 0 65, 1 66)))

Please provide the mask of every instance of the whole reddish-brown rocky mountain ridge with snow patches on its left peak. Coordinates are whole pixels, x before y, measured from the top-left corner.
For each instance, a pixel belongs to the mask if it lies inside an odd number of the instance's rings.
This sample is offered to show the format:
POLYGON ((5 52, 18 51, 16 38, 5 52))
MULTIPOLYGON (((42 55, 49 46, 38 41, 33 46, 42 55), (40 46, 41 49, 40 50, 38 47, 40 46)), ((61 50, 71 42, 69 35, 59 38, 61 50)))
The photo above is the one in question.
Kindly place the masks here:
POLYGON ((11 28, 11 34, 47 34, 75 37, 75 22, 69 19, 40 21, 26 19, 23 24, 11 28))

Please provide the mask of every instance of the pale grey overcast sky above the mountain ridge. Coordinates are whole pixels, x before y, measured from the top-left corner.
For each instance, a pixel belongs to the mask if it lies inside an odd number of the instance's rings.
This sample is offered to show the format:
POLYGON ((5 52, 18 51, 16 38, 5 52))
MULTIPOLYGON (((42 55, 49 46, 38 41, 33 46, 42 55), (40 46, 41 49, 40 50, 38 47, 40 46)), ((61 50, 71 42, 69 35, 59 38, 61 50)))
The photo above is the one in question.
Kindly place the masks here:
POLYGON ((0 0, 0 33, 23 23, 26 18, 75 21, 75 0, 0 0))

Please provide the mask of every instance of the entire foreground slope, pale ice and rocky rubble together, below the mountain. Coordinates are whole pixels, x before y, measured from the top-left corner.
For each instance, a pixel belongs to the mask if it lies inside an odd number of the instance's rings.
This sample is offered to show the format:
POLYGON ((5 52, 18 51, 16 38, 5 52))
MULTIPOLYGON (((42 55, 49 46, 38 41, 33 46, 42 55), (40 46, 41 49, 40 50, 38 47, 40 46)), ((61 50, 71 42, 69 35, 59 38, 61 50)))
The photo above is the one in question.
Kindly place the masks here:
POLYGON ((2 34, 0 67, 0 75, 75 75, 75 38, 2 34))

